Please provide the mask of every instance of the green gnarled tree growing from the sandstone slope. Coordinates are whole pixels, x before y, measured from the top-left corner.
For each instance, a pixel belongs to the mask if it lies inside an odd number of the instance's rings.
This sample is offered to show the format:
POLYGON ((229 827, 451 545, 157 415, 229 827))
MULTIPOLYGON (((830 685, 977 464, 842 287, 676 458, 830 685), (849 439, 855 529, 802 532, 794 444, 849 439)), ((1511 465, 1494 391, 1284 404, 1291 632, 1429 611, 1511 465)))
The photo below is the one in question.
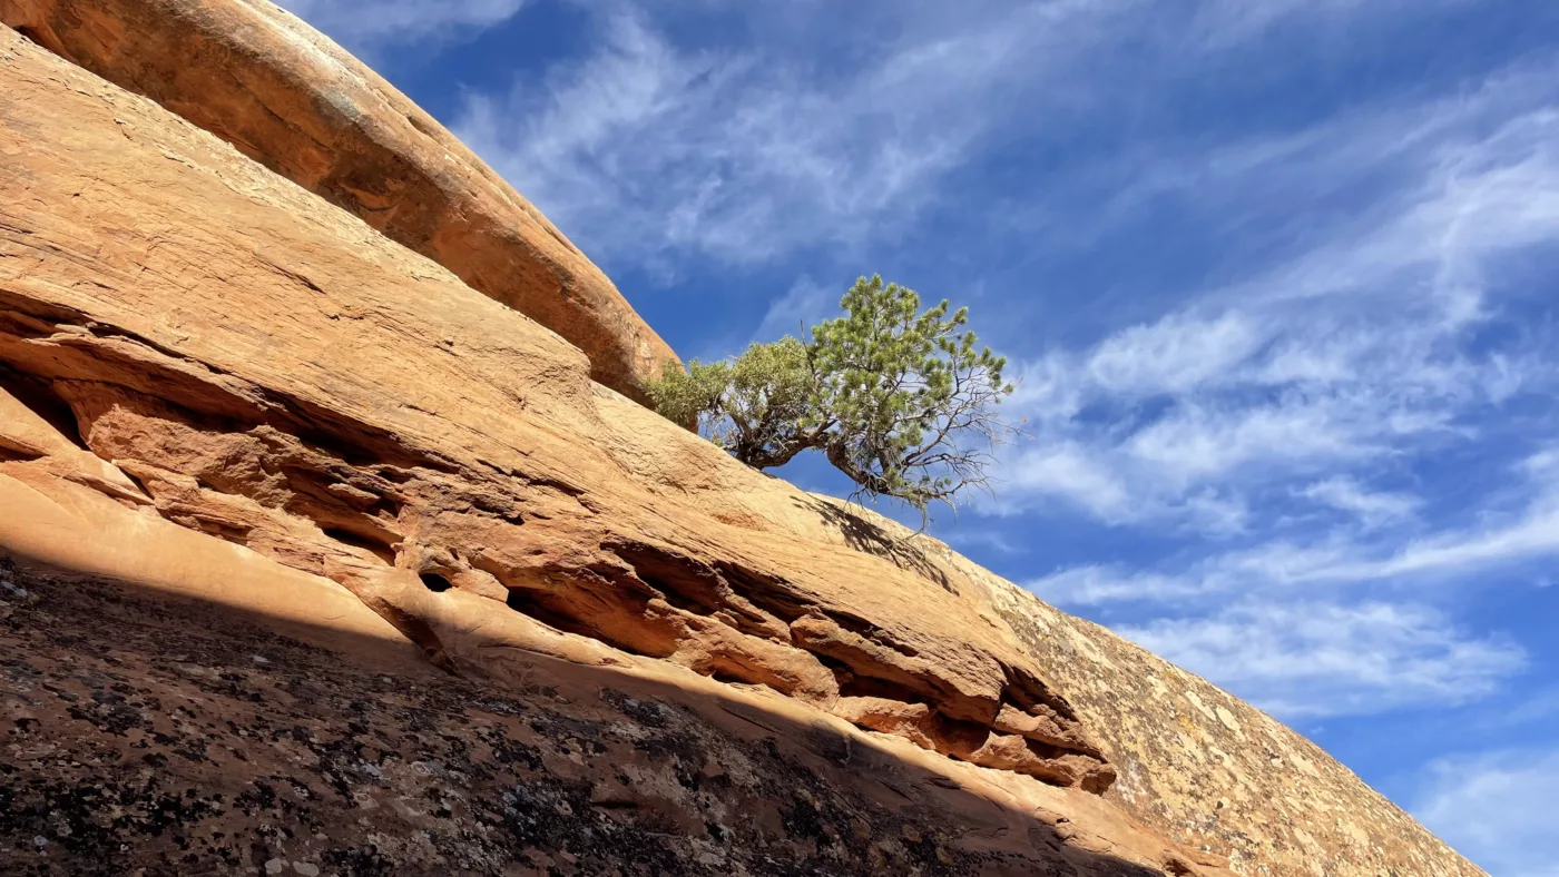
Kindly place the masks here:
POLYGON ((968 329, 968 308, 920 310, 914 290, 881 276, 839 304, 843 316, 804 340, 667 369, 650 385, 656 410, 756 469, 818 450, 856 497, 904 500, 923 523, 932 503, 988 491, 995 447, 1015 435, 999 416, 1013 385, 968 329))

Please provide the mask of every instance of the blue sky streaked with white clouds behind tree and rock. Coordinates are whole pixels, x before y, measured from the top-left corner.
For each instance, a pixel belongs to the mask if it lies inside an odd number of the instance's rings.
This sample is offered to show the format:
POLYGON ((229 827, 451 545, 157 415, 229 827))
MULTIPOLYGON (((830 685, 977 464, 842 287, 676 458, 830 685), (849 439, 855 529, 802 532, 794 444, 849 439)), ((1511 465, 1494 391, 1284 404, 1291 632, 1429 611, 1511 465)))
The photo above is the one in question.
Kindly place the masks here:
POLYGON ((971 305, 1027 438, 939 536, 1559 875, 1559 3, 288 5, 684 357, 971 305))

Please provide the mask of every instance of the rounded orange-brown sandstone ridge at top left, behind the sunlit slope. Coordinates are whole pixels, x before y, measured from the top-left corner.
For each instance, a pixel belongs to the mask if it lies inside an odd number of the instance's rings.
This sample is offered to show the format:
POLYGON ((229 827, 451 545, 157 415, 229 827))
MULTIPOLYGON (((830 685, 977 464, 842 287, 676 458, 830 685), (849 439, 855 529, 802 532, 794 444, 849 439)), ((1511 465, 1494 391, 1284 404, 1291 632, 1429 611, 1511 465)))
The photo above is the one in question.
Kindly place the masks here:
POLYGON ((433 117, 267 0, 0 0, 0 22, 147 95, 585 350, 642 400, 677 361, 617 288, 433 117))

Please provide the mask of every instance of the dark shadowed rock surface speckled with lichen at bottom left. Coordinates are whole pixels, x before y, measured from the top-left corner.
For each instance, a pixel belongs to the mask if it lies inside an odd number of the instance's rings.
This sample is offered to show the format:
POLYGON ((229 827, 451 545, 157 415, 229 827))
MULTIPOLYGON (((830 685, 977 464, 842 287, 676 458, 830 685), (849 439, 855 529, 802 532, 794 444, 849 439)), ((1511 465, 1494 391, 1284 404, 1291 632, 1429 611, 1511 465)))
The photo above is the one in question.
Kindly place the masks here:
POLYGON ((253 618, 0 561, 0 871, 1179 872, 823 729, 739 703, 723 729, 673 690, 603 681, 387 674, 253 618))

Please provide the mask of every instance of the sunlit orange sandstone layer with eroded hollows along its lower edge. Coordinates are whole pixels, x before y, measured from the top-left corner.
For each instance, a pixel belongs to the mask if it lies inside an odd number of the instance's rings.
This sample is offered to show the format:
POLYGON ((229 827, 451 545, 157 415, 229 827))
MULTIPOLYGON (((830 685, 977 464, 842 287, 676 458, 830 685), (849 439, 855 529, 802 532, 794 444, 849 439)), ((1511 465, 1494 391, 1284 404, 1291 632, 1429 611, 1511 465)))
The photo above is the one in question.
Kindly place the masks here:
POLYGON ((335 579, 452 662, 544 622, 822 709, 924 703, 928 738, 1108 784, 970 606, 711 519, 666 466, 800 494, 594 386, 552 333, 84 72, 6 73, 0 360, 164 519, 335 579))

